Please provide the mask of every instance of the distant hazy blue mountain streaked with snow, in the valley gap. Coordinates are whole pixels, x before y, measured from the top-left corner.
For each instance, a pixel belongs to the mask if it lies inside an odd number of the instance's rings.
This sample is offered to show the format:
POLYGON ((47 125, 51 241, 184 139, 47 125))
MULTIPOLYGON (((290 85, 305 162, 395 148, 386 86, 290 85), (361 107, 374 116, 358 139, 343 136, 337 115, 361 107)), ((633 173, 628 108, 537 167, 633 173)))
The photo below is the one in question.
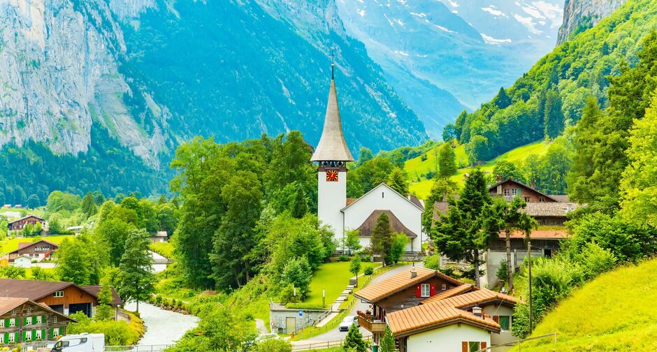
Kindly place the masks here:
POLYGON ((347 32, 366 45, 427 131, 440 136, 463 105, 477 108, 551 50, 561 23, 558 1, 339 0, 337 6, 347 32))

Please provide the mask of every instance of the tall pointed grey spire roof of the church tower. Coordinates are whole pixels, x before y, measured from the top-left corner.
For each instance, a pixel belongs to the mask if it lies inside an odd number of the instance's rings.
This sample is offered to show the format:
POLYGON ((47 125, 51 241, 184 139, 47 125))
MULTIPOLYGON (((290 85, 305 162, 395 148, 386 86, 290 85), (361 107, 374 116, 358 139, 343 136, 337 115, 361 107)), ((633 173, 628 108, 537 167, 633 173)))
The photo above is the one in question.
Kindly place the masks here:
POLYGON ((354 161, 354 157, 347 147, 345 135, 342 133, 338 94, 335 92, 335 80, 333 79, 331 79, 331 89, 329 90, 329 103, 326 104, 324 131, 322 131, 322 138, 319 138, 319 144, 317 144, 310 161, 354 161))

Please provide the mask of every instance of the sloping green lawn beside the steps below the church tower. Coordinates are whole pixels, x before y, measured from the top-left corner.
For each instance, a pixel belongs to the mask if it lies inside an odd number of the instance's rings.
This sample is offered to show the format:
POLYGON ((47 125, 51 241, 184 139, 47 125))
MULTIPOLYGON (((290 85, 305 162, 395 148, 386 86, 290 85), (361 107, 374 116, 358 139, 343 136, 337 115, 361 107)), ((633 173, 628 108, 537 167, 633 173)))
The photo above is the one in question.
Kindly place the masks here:
MULTIPOLYGON (((312 275, 310 281, 310 295, 305 299, 305 302, 291 303, 287 305, 288 308, 322 308, 322 289, 326 290, 326 306, 332 305, 338 299, 340 293, 345 291, 349 284, 349 279, 354 277, 354 274, 349 272, 349 265, 351 262, 337 262, 337 263, 324 263, 317 269, 315 274, 312 275)), ((361 274, 366 267, 377 267, 381 263, 361 263, 361 274)), ((359 281, 363 280, 359 278, 359 281)))

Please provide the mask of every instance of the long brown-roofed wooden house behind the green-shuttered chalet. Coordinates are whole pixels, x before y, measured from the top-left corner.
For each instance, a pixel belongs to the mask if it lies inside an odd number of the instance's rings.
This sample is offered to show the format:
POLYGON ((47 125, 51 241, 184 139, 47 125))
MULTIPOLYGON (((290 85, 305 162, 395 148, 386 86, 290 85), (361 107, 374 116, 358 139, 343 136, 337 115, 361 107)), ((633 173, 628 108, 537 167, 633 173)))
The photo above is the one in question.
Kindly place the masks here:
MULTIPOLYGON (((1 294, 6 297, 28 298, 66 316, 82 311, 91 317, 99 305, 100 286, 78 286, 62 281, 0 279, 0 288, 1 294)), ((110 305, 118 307, 123 304, 114 288, 112 295, 113 302, 110 305)))

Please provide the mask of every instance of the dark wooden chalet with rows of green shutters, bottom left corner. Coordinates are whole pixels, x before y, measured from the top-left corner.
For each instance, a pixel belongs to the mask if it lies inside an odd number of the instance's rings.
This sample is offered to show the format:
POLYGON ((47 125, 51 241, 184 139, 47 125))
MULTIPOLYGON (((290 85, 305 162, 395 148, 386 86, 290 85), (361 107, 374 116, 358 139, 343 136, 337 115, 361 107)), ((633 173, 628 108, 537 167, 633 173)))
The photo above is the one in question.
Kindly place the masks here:
POLYGON ((75 322, 43 303, 29 298, 0 297, 0 346, 33 341, 54 341, 66 335, 66 325, 75 322))

